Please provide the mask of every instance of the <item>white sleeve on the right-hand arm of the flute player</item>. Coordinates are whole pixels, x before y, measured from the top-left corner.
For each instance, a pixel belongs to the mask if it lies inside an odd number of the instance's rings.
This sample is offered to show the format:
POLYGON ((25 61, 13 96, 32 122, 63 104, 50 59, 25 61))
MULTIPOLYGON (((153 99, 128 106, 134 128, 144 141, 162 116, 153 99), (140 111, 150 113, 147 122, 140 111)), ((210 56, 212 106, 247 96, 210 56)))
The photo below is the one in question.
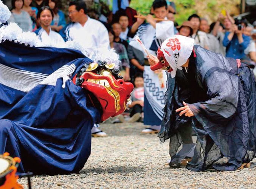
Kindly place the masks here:
POLYGON ((171 20, 156 23, 155 36, 157 39, 163 40, 174 36, 174 23, 171 20))

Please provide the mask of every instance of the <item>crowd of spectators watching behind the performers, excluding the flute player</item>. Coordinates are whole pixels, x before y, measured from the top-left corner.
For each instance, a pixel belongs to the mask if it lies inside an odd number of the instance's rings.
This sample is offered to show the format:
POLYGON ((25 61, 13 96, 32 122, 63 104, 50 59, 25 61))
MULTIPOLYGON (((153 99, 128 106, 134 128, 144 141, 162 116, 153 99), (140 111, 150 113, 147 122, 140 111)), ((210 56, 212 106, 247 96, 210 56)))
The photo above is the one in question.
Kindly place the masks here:
MULTIPOLYGON (((130 0, 113 0, 113 12, 101 14, 102 11, 88 11, 81 1, 72 1, 68 12, 64 13, 59 9, 59 0, 11 0, 12 15, 9 22, 16 22, 23 31, 35 31, 42 41, 62 43, 78 40, 88 54, 102 46, 114 48, 121 60, 124 80, 135 82, 135 89, 141 91, 145 60, 143 52, 129 45, 129 42, 141 25, 155 22, 152 19, 154 10, 149 10, 149 15, 137 19, 134 16, 138 13, 129 7, 129 3, 130 0), (66 22, 65 14, 68 15, 69 23, 66 22)), ((256 21, 249 23, 241 17, 234 20, 228 11, 222 11, 216 22, 211 24, 204 15, 192 14, 178 25, 175 15, 182 13, 176 11, 174 3, 167 1, 167 4, 168 14, 165 19, 174 23, 174 34, 191 37, 195 39, 195 44, 203 48, 241 59, 250 68, 254 68, 256 21)), ((139 121, 141 116, 138 117, 138 113, 143 111, 143 101, 140 98, 135 102, 130 105, 132 115, 136 115, 132 121, 139 121)))

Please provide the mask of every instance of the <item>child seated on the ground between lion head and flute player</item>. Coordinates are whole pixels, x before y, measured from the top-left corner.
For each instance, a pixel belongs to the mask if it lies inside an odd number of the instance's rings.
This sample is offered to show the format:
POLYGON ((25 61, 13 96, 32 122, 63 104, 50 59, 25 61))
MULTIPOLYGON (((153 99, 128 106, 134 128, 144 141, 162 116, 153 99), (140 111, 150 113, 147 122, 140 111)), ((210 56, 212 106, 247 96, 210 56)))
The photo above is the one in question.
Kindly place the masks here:
POLYGON ((137 73, 134 76, 134 90, 131 94, 132 104, 129 105, 131 108, 130 119, 128 122, 133 123, 143 118, 143 106, 144 106, 144 81, 143 75, 137 73))

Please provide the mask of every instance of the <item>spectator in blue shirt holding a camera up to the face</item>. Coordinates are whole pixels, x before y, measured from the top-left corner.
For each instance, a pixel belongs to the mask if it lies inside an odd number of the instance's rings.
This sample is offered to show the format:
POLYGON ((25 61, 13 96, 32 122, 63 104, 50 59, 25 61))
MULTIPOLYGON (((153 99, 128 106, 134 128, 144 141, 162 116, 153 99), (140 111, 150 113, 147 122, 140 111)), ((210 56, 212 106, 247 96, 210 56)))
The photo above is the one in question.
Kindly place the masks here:
POLYGON ((244 50, 250 43, 250 37, 243 34, 247 22, 238 18, 231 26, 231 31, 225 33, 223 46, 226 47, 226 57, 242 59, 245 54, 244 50))

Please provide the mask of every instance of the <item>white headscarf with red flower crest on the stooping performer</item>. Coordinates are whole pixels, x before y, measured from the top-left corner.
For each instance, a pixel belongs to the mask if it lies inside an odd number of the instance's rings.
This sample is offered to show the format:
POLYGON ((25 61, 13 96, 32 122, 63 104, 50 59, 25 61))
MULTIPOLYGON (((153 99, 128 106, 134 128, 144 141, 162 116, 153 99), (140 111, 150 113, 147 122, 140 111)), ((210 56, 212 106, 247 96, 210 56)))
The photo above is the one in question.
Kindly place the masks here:
POLYGON ((172 67, 171 77, 175 77, 177 69, 182 70, 182 65, 186 63, 192 53, 194 46, 194 39, 175 35, 166 39, 160 50, 164 54, 164 58, 172 67))

